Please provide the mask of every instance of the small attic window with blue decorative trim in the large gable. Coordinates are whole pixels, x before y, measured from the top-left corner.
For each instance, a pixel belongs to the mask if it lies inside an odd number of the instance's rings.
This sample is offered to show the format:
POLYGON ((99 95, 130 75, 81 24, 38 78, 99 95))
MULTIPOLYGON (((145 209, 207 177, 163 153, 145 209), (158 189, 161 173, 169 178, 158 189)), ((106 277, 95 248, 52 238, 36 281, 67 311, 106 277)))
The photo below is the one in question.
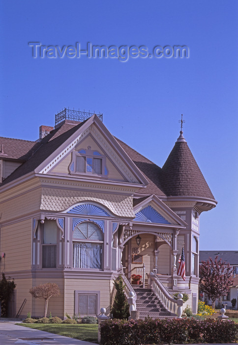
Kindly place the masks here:
POLYGON ((90 146, 88 149, 74 151, 70 172, 98 176, 107 175, 106 157, 98 151, 91 150, 90 146))

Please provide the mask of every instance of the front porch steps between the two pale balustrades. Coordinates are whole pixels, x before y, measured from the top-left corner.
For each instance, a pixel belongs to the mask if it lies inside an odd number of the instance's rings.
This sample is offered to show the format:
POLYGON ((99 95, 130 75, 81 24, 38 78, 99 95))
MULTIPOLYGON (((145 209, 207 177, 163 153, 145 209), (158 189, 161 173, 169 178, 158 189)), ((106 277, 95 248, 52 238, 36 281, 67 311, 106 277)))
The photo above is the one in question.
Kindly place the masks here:
POLYGON ((172 318, 176 314, 168 311, 163 304, 159 301, 157 296, 151 289, 134 287, 136 293, 136 309, 140 311, 140 319, 145 319, 149 316, 155 318, 172 318))

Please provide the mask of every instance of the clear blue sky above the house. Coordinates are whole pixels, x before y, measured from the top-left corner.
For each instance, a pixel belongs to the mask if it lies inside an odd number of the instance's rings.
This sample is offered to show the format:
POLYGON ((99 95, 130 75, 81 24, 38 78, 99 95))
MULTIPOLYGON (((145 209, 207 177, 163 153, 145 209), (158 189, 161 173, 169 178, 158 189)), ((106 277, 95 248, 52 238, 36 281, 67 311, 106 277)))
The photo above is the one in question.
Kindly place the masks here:
POLYGON ((184 137, 218 201, 201 250, 238 250, 237 0, 2 0, 0 136, 36 140, 63 107, 104 124, 160 167, 184 137), (189 58, 32 58, 43 45, 189 47, 189 58))

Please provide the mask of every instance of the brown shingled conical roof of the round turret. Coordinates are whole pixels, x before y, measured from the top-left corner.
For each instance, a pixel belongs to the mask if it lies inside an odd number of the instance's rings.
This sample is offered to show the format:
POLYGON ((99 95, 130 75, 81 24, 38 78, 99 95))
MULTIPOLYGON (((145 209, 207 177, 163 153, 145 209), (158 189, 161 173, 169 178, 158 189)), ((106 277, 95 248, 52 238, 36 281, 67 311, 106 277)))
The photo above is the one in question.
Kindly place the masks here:
POLYGON ((213 199, 208 184, 190 151, 182 131, 161 171, 161 182, 167 196, 189 196, 213 199))

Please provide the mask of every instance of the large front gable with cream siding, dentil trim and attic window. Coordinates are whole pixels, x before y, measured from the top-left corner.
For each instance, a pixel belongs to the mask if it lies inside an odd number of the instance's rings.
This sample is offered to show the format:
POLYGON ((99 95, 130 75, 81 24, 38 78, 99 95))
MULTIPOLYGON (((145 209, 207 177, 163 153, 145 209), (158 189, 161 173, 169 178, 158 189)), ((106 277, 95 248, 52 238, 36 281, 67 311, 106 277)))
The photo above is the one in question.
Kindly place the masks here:
MULTIPOLYGON (((99 122, 95 124, 93 120, 91 123, 87 121, 69 138, 71 140, 67 140, 65 145, 61 145, 56 150, 51 161, 49 159, 40 167, 39 173, 76 178, 103 177, 111 181, 147 184, 143 174, 122 150, 116 139, 107 130, 106 133, 100 131, 100 126, 103 124, 99 122), (97 170, 94 170, 96 165, 97 170)), ((103 130, 105 129, 104 126, 103 130)))

